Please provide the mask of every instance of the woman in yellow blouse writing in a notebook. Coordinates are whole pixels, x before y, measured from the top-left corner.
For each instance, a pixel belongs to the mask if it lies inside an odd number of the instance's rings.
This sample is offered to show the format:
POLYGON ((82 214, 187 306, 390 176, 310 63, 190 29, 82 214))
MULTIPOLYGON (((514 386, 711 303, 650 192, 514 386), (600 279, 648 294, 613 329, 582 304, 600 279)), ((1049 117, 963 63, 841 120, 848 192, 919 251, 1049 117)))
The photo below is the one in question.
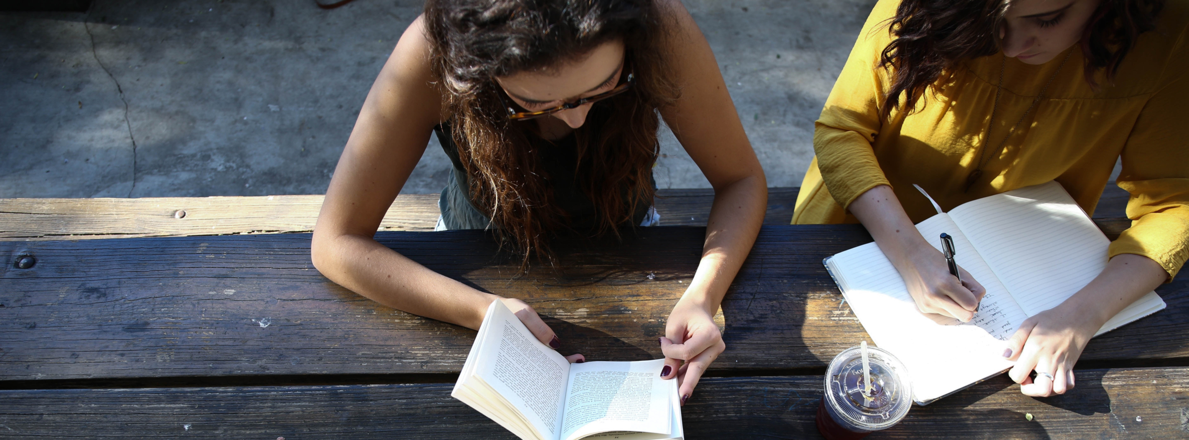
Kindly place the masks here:
POLYGON ((880 0, 817 121, 793 222, 862 222, 921 312, 968 321, 984 290, 913 227, 935 210, 912 184, 948 210, 1056 180, 1093 213, 1121 157, 1131 228, 1004 353, 1024 394, 1063 394, 1094 332, 1189 256, 1187 73, 1185 0, 880 0))

